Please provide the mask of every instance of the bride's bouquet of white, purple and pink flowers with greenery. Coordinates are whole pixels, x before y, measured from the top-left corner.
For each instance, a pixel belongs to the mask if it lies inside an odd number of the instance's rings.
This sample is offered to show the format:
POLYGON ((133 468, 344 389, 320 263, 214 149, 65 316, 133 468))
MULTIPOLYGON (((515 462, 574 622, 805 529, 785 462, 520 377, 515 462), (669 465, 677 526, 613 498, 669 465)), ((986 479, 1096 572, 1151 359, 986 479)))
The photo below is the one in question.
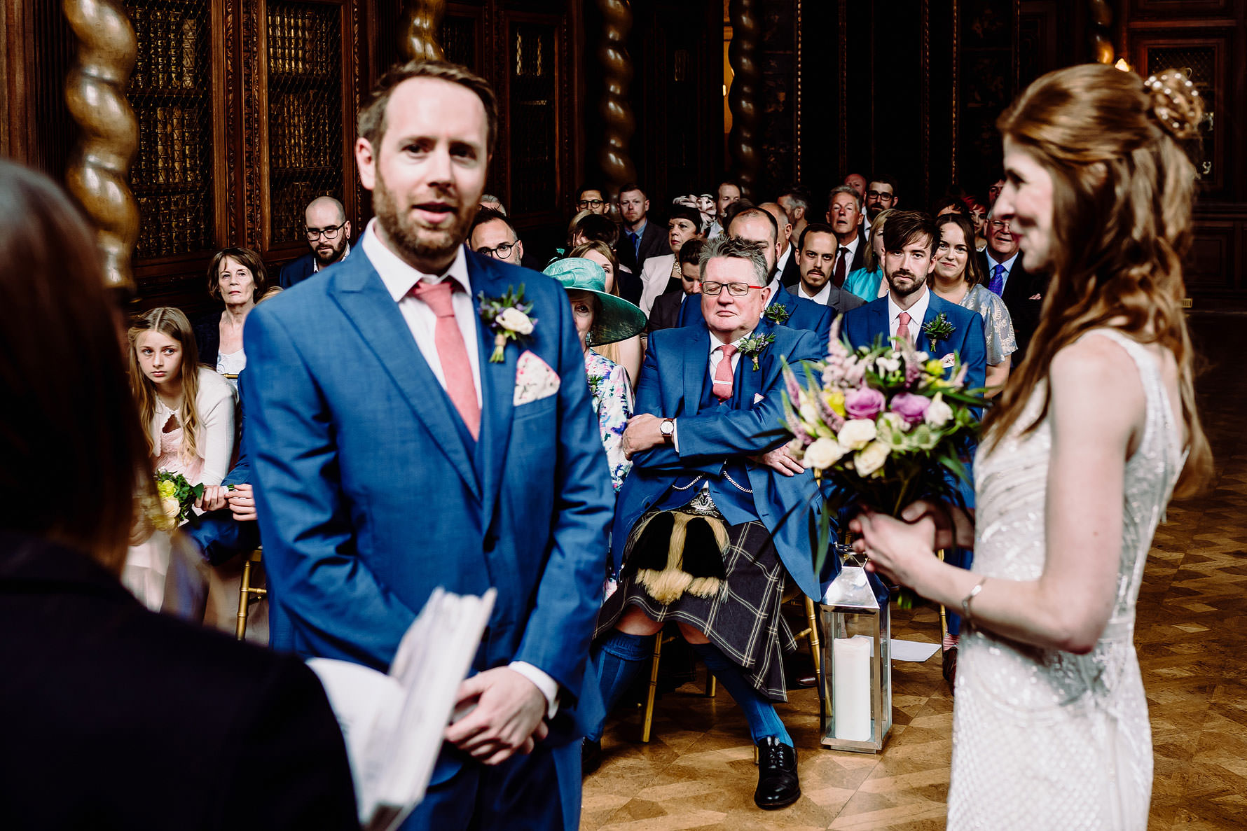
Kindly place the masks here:
POLYGON ((847 505, 899 516, 915 500, 960 502, 958 480, 969 483, 961 453, 978 432, 975 409, 985 404, 979 391, 964 389, 959 356, 946 368, 902 339, 854 351, 839 328, 837 318, 827 359, 806 368, 804 385, 784 366, 788 450, 834 486, 816 543, 818 571, 828 549, 827 517, 847 505))

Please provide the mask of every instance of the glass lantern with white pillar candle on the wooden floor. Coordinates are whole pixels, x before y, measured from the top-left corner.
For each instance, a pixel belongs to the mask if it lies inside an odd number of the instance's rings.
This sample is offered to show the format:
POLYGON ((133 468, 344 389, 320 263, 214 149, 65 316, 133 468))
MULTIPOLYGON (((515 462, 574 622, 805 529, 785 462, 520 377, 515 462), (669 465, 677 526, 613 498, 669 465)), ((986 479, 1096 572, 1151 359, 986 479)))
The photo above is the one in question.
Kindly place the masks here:
POLYGON ((888 598, 884 594, 880 603, 877 584, 853 559, 852 553, 845 557, 819 604, 823 746, 879 753, 892 730, 888 598))

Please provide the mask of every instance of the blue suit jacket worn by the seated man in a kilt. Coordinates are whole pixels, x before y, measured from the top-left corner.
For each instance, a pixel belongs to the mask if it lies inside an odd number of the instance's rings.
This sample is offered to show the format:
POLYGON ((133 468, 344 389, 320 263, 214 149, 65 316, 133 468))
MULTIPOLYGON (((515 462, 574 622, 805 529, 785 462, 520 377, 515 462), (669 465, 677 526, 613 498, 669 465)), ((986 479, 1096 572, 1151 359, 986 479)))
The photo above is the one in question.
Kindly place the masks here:
MULTIPOLYGON (((690 475, 697 473, 717 476, 731 456, 752 456, 783 444, 783 439, 774 436, 759 437, 782 426, 784 385, 779 358, 786 356, 789 364, 819 360, 823 349, 807 331, 772 326, 766 321, 757 331, 772 331, 776 339, 759 355, 756 371, 752 361, 741 356, 736 368, 739 409, 725 412, 715 407, 705 414, 698 410, 705 385, 710 382, 706 324, 662 329, 650 336, 633 411, 676 419, 680 450, 661 446, 632 457, 632 472, 620 490, 615 539, 626 539, 641 515, 661 502, 676 482, 686 482, 690 475)), ((752 461, 747 462, 747 468, 754 510, 771 529, 779 558, 801 589, 818 598, 804 508, 814 496, 813 473, 807 471, 788 477, 752 461)))

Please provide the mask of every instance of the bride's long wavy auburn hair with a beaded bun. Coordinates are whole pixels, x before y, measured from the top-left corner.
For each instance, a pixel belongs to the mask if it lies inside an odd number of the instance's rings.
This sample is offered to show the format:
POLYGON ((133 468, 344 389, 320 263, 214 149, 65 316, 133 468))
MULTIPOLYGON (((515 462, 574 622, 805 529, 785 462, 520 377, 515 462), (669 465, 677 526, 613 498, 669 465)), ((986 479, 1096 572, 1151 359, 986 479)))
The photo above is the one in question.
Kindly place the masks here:
MULTIPOLYGON (((1040 77, 996 121, 1052 177, 1050 283, 1025 360, 988 415, 988 441, 1021 416, 1052 356, 1090 329, 1115 328, 1173 353, 1187 427, 1176 496, 1191 496, 1212 471, 1195 406, 1193 350, 1182 314, 1182 258, 1191 247, 1195 167, 1180 142, 1203 115, 1178 70, 1148 78, 1101 64, 1040 77)), ((1044 407, 1025 430, 1046 415, 1044 407)))

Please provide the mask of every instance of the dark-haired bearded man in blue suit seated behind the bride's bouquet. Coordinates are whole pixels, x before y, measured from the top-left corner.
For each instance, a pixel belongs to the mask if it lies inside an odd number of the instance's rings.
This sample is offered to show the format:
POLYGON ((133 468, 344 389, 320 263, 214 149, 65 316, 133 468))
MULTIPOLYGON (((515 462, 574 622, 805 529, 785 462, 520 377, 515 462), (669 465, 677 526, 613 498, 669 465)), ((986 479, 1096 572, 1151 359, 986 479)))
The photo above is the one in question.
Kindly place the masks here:
MULTIPOLYGON (((935 244, 939 230, 935 222, 918 211, 899 211, 883 227, 883 277, 888 294, 844 315, 842 331, 853 346, 873 344, 875 338, 907 338, 919 351, 944 361, 945 374, 951 370, 954 353, 965 366, 965 386, 974 390, 986 382, 986 339, 983 316, 936 295, 927 285, 935 268, 935 244), (943 315, 951 326, 950 334, 933 336, 927 328, 943 315)), ((945 326, 946 331, 946 326, 945 326)), ((973 456, 973 453, 971 453, 973 456)), ((970 470, 970 465, 966 465, 970 470)), ((974 488, 958 483, 966 506, 974 507, 974 488)), ((973 556, 960 548, 946 554, 946 561, 969 568, 973 556)), ((949 684, 956 675, 955 638, 960 618, 949 609, 949 640, 944 644, 944 678, 949 684)))

